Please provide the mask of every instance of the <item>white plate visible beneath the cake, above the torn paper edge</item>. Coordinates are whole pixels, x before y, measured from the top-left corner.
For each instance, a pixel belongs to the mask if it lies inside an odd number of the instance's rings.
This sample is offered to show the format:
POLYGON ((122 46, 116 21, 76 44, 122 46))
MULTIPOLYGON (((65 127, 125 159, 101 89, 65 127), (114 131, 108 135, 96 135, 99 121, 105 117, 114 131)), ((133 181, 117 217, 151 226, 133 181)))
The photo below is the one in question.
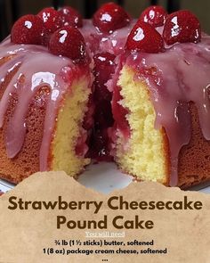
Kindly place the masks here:
MULTIPOLYGON (((129 185, 133 177, 127 176, 117 170, 114 163, 101 162, 93 164, 86 168, 85 172, 78 178, 81 185, 92 188, 100 193, 110 193, 115 189, 121 189, 129 185)), ((7 192, 14 185, 0 179, 0 191, 7 192)), ((202 193, 210 193, 210 183, 208 185, 199 185, 188 190, 202 193)))

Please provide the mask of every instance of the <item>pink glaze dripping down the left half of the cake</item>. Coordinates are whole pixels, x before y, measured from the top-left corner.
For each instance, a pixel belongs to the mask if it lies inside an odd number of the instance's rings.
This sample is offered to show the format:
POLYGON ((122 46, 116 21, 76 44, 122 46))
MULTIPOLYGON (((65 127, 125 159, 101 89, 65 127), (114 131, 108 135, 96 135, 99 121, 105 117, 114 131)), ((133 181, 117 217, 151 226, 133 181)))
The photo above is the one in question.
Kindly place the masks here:
MULTIPOLYGON (((70 90, 74 78, 73 70, 77 66, 68 58, 54 56, 48 53, 41 45, 12 45, 10 40, 5 40, 1 45, 0 58, 13 55, 12 59, 1 66, 0 80, 16 66, 20 66, 11 82, 6 87, 0 101, 0 127, 4 124, 4 115, 9 105, 12 93, 18 95, 18 104, 14 115, 10 119, 5 135, 5 147, 9 158, 14 158, 21 150, 26 136, 26 116, 28 105, 36 95, 36 91, 42 86, 48 86, 51 90, 50 98, 46 103, 44 119, 43 141, 40 149, 40 170, 48 169, 48 154, 52 140, 53 128, 56 121, 56 113, 61 99, 66 91, 70 90), (68 76, 71 75, 71 78, 68 76), (24 80, 21 81, 21 77, 24 80)), ((78 75, 77 69, 77 75, 78 75)))

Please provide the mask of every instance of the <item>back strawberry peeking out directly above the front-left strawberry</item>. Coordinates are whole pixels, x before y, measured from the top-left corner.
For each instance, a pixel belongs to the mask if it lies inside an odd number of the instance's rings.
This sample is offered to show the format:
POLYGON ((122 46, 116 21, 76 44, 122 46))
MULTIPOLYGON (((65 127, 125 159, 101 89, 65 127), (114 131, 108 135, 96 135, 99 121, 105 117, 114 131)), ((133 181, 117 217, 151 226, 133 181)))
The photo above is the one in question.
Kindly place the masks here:
POLYGON ((76 28, 83 27, 83 18, 76 9, 70 6, 64 6, 59 10, 63 26, 71 26, 76 28))

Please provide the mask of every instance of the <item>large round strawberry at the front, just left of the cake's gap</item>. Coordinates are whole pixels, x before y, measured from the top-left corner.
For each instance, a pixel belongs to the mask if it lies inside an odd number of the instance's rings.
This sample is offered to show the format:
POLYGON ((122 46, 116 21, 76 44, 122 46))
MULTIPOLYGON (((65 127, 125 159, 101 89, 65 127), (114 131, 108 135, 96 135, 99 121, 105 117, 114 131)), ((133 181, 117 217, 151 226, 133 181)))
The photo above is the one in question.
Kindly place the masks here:
POLYGON ((52 34, 49 50, 53 54, 81 62, 85 59, 85 39, 78 29, 63 27, 52 34))

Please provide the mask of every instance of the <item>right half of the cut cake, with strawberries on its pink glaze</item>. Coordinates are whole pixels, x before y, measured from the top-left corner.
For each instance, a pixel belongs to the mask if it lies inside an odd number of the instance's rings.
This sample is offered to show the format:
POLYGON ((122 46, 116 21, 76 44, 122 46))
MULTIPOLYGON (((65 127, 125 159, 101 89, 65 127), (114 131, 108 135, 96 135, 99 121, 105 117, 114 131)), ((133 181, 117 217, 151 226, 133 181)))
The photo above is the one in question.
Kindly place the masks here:
POLYGON ((112 154, 137 180, 186 188, 210 179, 210 37, 187 11, 169 15, 158 31, 140 19, 118 57, 112 154))

